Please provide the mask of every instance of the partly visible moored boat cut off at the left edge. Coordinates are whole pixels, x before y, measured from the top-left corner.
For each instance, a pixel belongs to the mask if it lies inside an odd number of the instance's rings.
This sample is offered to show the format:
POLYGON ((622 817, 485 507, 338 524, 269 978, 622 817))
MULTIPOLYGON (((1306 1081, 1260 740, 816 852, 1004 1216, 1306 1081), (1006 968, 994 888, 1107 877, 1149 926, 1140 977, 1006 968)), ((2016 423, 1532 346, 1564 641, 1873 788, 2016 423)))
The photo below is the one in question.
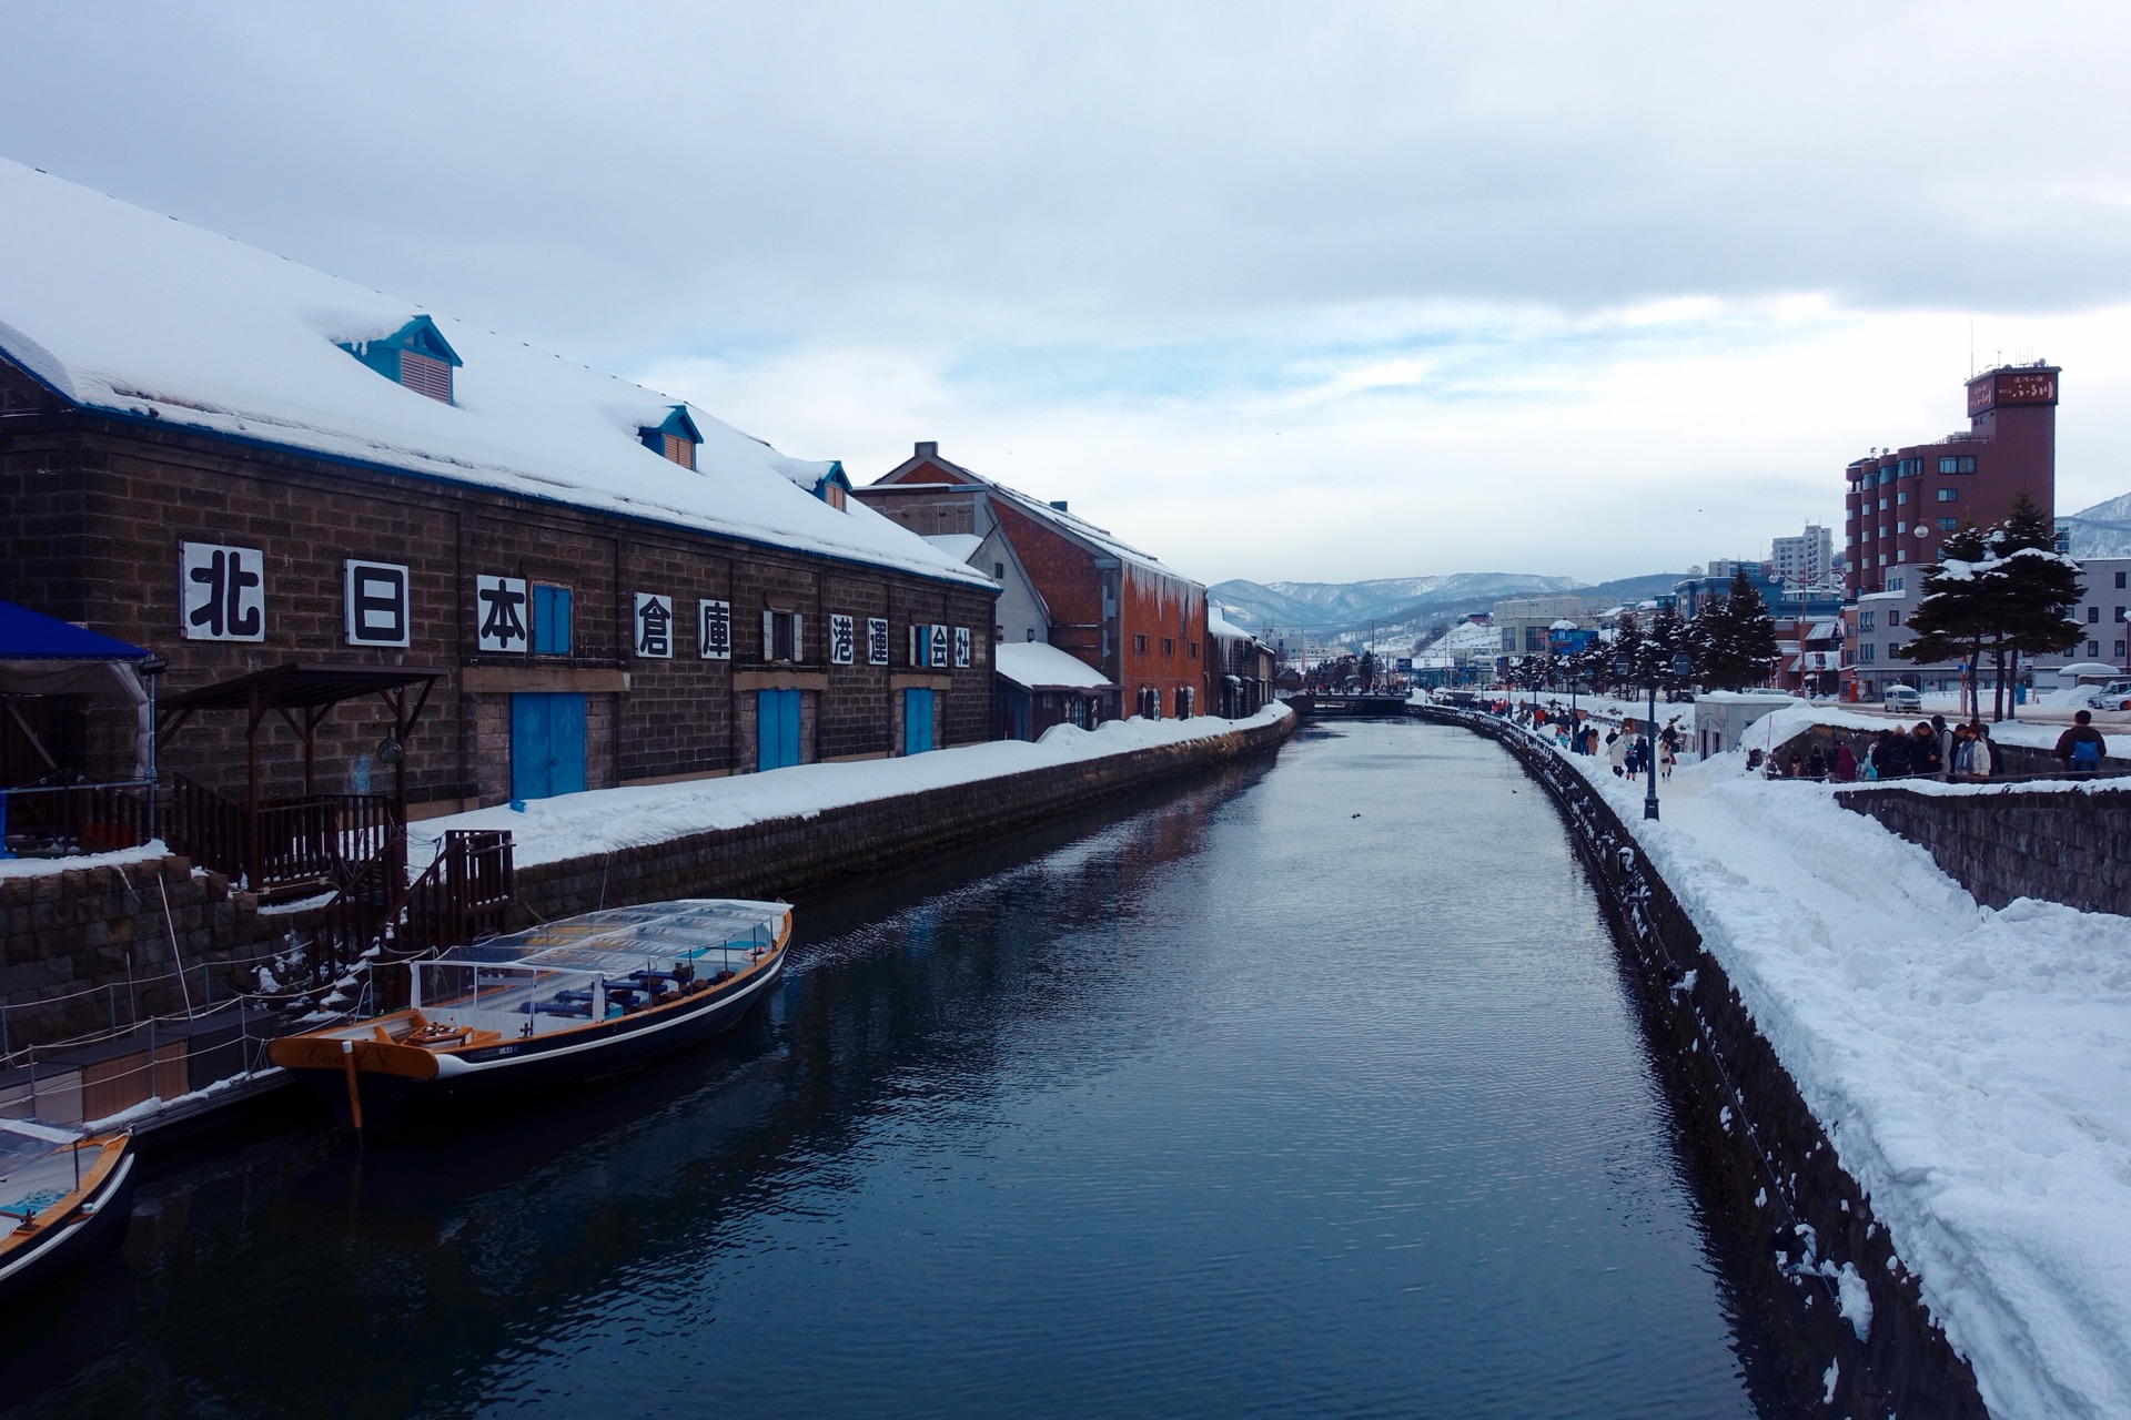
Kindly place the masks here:
POLYGON ((132 1135, 0 1120, 0 1307, 126 1237, 132 1135))

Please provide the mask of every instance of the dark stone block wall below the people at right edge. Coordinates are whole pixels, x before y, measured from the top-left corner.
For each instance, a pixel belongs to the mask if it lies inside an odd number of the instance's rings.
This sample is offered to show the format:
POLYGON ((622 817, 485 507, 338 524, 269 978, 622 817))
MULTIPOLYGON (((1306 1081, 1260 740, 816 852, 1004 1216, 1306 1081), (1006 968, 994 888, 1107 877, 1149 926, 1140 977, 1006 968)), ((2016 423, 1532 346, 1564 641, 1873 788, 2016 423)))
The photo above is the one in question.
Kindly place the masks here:
POLYGON ((1973 794, 1890 783, 1839 790, 1835 803, 1922 845, 1978 903, 2005 907, 2027 896, 2131 915, 2131 781, 2091 792, 2007 786, 1973 794))

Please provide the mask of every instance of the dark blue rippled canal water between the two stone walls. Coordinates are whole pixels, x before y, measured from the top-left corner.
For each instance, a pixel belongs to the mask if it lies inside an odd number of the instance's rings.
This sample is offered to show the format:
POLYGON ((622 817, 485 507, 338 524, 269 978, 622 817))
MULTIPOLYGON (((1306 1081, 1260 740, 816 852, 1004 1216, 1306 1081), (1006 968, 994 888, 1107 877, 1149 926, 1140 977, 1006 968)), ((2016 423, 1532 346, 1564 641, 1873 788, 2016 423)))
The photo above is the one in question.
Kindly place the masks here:
POLYGON ((656 1071, 181 1162, 0 1405, 1775 1414, 1720 1256, 1549 803, 1355 722, 801 903, 656 1071))

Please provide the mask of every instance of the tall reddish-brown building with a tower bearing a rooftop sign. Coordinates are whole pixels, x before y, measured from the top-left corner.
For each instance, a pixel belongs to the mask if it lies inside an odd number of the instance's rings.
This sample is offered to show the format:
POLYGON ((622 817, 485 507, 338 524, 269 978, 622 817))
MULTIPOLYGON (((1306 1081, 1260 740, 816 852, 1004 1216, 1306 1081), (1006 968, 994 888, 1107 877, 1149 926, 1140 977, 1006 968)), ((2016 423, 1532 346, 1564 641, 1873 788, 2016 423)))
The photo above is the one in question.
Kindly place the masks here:
POLYGON ((2027 494, 2056 511, 2054 364, 2001 364, 1969 381, 1969 428, 1843 468, 1843 590, 1884 592, 1890 575, 1939 560, 1963 524, 1988 526, 2027 494))

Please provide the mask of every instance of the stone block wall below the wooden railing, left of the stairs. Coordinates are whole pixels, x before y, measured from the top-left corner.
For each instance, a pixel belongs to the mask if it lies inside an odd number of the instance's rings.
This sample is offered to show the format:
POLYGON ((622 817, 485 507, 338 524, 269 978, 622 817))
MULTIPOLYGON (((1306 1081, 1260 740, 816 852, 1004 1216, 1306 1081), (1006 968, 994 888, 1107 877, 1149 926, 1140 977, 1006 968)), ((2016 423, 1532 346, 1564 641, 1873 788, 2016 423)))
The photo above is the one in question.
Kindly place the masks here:
POLYGON ((0 877, 0 1003, 9 1045, 45 1045, 228 998, 237 958, 281 939, 249 892, 181 856, 0 877), (168 918, 164 918, 168 894, 168 918), (177 935, 173 958, 170 937, 177 935), (177 964, 185 969, 179 988, 177 964), (200 969, 207 969, 202 977, 200 969))

